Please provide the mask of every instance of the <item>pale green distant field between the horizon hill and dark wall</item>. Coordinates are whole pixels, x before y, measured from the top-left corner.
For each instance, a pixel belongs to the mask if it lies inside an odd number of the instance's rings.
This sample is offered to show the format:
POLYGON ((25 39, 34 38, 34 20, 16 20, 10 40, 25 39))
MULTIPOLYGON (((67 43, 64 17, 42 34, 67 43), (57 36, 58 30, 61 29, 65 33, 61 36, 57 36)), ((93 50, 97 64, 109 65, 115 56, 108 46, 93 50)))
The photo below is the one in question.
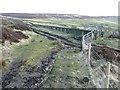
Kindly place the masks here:
POLYGON ((38 22, 38 23, 48 23, 48 24, 63 24, 63 25, 73 25, 73 26, 77 26, 77 27, 82 27, 82 26, 86 26, 89 24, 95 24, 95 25, 107 25, 113 28, 117 28, 118 23, 117 20, 111 20, 111 19, 57 19, 57 18, 46 18, 46 19, 27 19, 27 20, 31 20, 34 22, 38 22))

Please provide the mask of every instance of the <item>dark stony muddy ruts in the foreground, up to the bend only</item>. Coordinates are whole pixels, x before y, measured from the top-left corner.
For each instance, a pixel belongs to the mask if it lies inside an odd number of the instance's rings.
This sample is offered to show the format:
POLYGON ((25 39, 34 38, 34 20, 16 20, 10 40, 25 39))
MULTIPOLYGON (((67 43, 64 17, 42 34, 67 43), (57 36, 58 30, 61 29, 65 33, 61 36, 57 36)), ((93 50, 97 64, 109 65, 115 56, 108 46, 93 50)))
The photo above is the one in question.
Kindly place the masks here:
POLYGON ((40 88, 47 79, 47 74, 51 71, 55 61, 55 55, 64 49, 63 47, 54 48, 48 52, 40 62, 34 66, 29 66, 29 70, 24 72, 20 68, 24 66, 25 59, 22 57, 14 60, 8 72, 2 76, 3 88, 40 88))

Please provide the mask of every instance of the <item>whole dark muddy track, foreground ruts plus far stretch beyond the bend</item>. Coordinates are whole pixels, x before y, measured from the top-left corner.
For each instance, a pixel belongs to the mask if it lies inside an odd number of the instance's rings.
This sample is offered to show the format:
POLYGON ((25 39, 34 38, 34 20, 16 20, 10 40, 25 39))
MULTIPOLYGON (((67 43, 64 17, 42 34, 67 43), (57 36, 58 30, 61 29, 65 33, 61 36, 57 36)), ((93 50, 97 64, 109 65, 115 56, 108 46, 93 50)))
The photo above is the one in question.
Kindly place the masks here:
POLYGON ((55 61, 55 55, 65 48, 80 48, 78 43, 67 40, 64 37, 51 34, 45 31, 32 29, 35 33, 45 36, 50 40, 61 41, 64 45, 58 48, 53 48, 50 52, 46 53, 34 66, 29 67, 25 71, 21 71, 21 67, 24 67, 25 56, 21 55, 17 59, 13 60, 8 71, 2 75, 2 87, 3 88, 40 88, 42 83, 48 78, 47 74, 51 71, 55 61))

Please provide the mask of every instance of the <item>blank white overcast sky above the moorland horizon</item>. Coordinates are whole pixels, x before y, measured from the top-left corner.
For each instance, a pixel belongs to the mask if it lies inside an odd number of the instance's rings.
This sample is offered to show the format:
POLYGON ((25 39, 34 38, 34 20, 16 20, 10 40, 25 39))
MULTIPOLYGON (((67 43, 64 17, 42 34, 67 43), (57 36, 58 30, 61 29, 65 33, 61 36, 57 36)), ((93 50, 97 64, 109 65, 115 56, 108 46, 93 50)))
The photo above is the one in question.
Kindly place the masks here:
POLYGON ((117 16, 119 0, 1 0, 0 13, 117 16))

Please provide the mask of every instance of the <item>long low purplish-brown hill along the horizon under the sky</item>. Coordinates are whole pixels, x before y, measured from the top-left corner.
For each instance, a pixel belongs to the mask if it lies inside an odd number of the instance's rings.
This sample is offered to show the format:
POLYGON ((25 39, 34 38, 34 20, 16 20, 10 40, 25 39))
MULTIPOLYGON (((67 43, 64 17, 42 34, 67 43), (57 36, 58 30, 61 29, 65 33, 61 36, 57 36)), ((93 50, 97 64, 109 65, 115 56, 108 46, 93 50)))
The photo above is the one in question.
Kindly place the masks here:
POLYGON ((117 16, 83 16, 79 14, 44 14, 44 13, 2 13, 3 16, 17 18, 117 18, 117 16))

